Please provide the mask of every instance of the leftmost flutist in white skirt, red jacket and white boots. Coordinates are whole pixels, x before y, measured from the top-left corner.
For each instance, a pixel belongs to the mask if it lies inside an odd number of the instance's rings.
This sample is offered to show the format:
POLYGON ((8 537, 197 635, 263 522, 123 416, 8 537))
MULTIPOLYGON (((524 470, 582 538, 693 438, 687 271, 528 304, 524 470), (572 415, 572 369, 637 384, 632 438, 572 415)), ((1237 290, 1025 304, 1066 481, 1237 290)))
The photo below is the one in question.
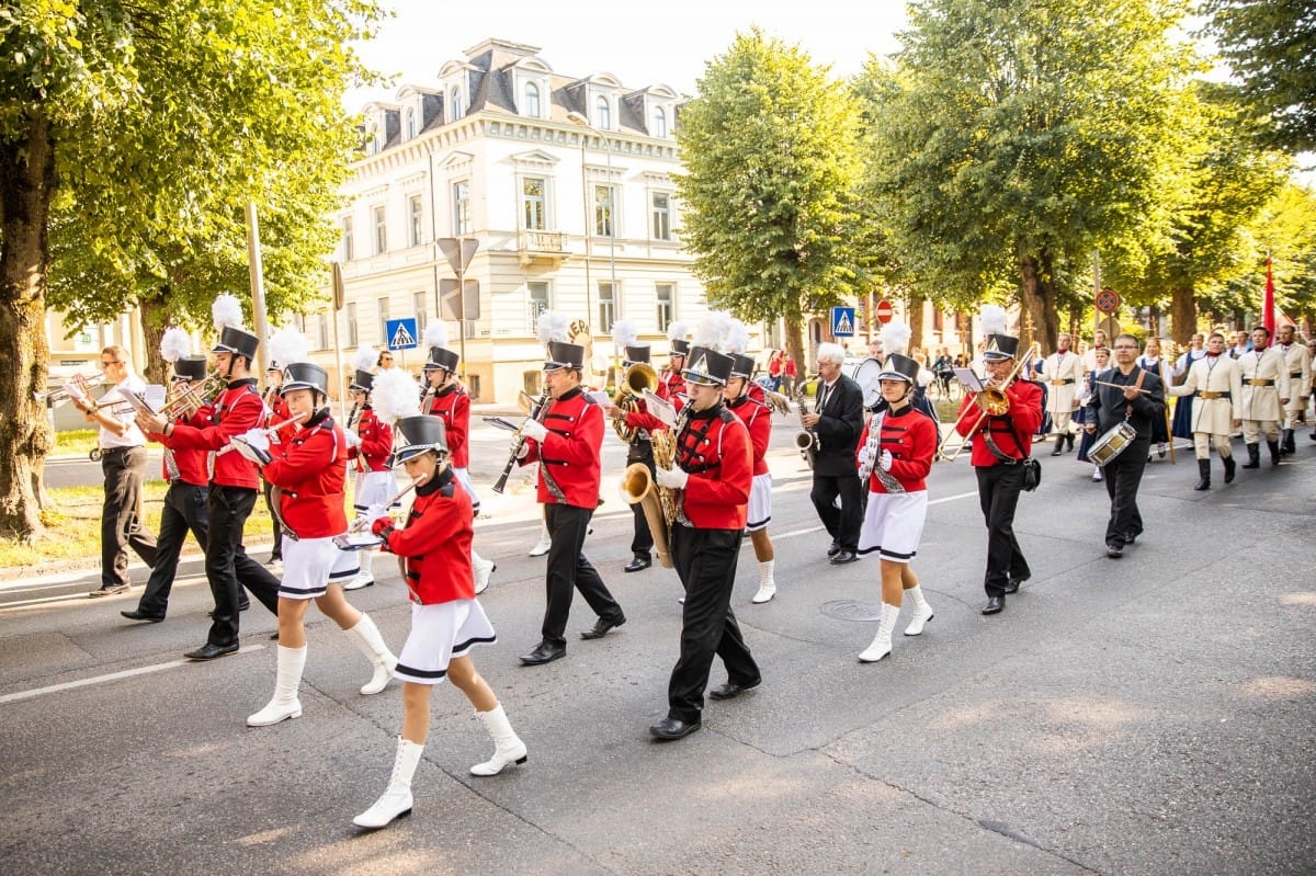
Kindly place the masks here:
POLYGON ((279 522, 287 530, 283 546, 283 580, 279 583, 279 650, 274 697, 247 718, 247 726, 263 727, 301 717, 297 688, 307 664, 307 604, 316 605, 338 625, 374 667, 362 693, 379 693, 388 685, 397 659, 384 645, 379 629, 365 612, 342 595, 342 583, 357 573, 354 551, 334 543, 347 531, 347 446, 342 427, 329 410, 329 375, 311 362, 284 367, 283 387, 288 413, 296 421, 279 443, 265 430, 254 429, 233 446, 261 468, 274 484, 279 522))

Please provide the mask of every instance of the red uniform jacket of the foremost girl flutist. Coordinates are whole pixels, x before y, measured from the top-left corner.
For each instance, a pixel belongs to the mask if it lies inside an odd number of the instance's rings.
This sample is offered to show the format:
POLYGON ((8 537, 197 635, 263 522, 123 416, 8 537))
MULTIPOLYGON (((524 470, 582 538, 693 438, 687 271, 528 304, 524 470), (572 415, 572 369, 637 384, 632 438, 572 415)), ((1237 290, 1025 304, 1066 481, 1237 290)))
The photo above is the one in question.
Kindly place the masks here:
POLYGON ((471 497, 451 468, 416 488, 405 529, 384 533, 384 548, 407 559, 407 589, 413 602, 434 605, 475 598, 471 497))

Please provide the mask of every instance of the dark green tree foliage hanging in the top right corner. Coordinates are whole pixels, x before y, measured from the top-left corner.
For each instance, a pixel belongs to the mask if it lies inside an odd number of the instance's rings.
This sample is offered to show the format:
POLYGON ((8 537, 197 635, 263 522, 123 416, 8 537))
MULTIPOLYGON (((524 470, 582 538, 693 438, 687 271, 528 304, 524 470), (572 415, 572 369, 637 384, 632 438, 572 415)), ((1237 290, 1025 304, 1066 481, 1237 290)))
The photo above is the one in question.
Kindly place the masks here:
POLYGON ((1316 7, 1311 0, 1207 0, 1207 28, 1242 80, 1262 141, 1291 155, 1316 150, 1316 7))

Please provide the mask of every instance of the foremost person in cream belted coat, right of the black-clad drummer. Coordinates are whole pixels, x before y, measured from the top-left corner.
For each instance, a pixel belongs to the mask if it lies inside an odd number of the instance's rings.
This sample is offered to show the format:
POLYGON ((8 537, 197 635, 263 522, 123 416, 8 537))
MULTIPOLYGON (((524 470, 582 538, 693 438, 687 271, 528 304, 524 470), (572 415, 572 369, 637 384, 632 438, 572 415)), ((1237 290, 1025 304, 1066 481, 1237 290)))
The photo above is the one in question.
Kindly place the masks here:
POLYGON ((1212 442, 1225 467, 1225 483, 1234 477, 1229 434, 1242 426, 1242 375, 1238 363, 1224 351, 1225 335, 1212 331, 1207 355, 1192 363, 1180 385, 1170 387, 1170 395, 1183 399, 1178 404, 1192 410, 1192 450, 1199 475, 1194 489, 1211 489, 1212 442))

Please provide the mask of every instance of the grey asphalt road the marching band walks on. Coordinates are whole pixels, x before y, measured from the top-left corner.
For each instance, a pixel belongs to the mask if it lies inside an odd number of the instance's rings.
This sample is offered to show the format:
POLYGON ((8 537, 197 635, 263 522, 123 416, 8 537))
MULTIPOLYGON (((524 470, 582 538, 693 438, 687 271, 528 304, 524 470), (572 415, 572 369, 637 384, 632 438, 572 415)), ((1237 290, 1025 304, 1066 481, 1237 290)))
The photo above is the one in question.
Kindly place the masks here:
MULTIPOLYGON (((779 593, 746 541, 734 609, 765 683, 713 702, 703 731, 653 743, 676 656, 674 572, 622 575, 630 517, 621 446, 587 555, 628 622, 522 668, 538 641, 544 560, 524 480, 484 491, 482 602, 500 639, 480 672, 529 746, 492 779, 465 698, 434 696, 416 810, 361 834, 383 791, 400 687, 374 697, 359 652, 312 610, 304 716, 247 729, 274 684, 274 618, 243 616, 238 655, 180 660, 209 595, 190 560, 161 625, 130 596, 87 600, 95 575, 0 584, 0 871, 5 873, 1311 873, 1316 871, 1316 445, 1205 493, 1155 462, 1148 531, 1104 556, 1105 492, 1051 459, 1017 530, 1034 577, 986 618, 984 531, 965 460, 938 463, 915 568, 936 610, 923 637, 859 664, 875 562, 828 566, 828 539, 778 418, 771 531, 779 593)), ((479 433, 476 480, 505 434, 479 433)), ((263 558, 263 551, 259 554, 263 558)), ((376 560, 384 572, 390 560, 376 560)), ((134 570, 134 580, 145 580, 134 570)), ((396 573, 357 592, 401 647, 396 573)), ((570 630, 592 616, 582 600, 570 630)), ((898 630, 903 629, 901 618, 898 630)), ((712 683, 724 672, 715 666, 712 683)))

